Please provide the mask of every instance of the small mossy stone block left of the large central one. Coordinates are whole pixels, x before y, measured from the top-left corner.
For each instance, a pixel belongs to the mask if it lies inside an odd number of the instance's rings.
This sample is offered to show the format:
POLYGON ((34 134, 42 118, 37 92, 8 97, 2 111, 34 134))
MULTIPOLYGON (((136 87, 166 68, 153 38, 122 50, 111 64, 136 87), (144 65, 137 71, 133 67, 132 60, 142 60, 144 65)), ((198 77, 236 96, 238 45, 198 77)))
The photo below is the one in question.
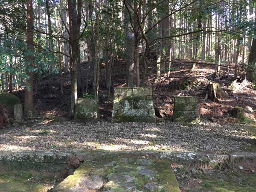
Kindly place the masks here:
POLYGON ((99 105, 96 99, 77 99, 75 121, 89 122, 98 121, 99 105))

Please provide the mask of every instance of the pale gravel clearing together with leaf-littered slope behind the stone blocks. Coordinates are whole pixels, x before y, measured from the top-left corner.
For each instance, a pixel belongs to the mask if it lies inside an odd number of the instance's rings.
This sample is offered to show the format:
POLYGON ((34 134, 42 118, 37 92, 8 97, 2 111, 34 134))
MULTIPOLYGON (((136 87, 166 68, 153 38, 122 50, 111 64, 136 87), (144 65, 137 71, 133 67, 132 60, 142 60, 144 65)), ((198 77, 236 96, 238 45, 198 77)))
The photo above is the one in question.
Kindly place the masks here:
MULTIPOLYGON (((125 67, 116 63, 113 67, 113 87, 125 86, 125 67)), ((154 75, 148 75, 147 85, 152 87, 154 103, 160 108, 166 121, 158 124, 111 123, 112 100, 104 88, 105 71, 101 70, 99 105, 100 122, 79 124, 72 121, 55 122, 46 125, 35 124, 0 131, 0 150, 171 150, 171 151, 256 151, 256 90, 246 80, 234 81, 232 68, 215 76, 215 66, 197 66, 190 73, 190 64, 172 64, 169 77, 155 82, 154 75), (223 102, 205 100, 206 82, 218 82, 228 93, 223 102), (180 125, 172 123, 174 96, 198 96, 201 124, 180 125), (251 123, 239 122, 232 116, 235 106, 244 108, 251 123), (170 121, 169 121, 170 120, 170 121)), ((232 67, 232 66, 231 66, 232 67)), ((84 79, 88 73, 83 64, 84 79)), ((153 74, 149 68, 148 74, 153 74)), ((167 73, 164 74, 167 76, 167 73)), ((66 116, 70 108, 70 75, 63 74, 64 93, 61 95, 59 76, 43 76, 35 82, 34 105, 38 115, 51 113, 55 117, 66 116)), ((92 89, 92 76, 88 88, 92 89)), ((24 91, 14 92, 23 101, 24 91)), ((111 90, 112 98, 113 90, 111 90)), ((56 118, 56 119, 57 119, 56 118)))

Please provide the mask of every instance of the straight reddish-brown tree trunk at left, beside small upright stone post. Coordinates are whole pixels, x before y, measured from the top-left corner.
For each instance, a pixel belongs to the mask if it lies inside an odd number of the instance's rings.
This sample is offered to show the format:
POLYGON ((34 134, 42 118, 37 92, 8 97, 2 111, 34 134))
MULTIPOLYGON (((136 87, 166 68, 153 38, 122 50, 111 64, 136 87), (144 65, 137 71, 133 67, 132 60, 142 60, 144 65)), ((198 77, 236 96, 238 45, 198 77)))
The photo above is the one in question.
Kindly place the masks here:
POLYGON ((34 80, 34 40, 33 40, 33 4, 32 0, 27 0, 27 49, 30 54, 27 56, 27 75, 26 90, 24 96, 24 117, 34 117, 33 105, 33 80, 34 80))

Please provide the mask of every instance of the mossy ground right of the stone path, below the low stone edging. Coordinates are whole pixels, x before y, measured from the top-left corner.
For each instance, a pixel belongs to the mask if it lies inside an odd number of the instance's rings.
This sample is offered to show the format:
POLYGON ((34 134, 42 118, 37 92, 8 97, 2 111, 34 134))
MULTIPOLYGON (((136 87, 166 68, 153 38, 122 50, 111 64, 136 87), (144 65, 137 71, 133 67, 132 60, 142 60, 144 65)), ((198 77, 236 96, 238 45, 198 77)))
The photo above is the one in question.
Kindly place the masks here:
POLYGON ((175 169, 181 192, 255 192, 255 170, 175 169))

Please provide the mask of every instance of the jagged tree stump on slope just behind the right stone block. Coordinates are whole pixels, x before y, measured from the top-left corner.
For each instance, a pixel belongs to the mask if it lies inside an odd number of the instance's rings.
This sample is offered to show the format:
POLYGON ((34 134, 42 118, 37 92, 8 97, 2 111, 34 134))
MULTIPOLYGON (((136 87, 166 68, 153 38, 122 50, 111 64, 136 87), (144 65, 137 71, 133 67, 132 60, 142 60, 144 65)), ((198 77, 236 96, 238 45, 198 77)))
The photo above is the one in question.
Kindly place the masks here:
POLYGON ((208 92, 205 99, 207 100, 208 97, 213 102, 221 102, 228 97, 228 94, 221 90, 221 87, 218 83, 209 82, 208 92))

